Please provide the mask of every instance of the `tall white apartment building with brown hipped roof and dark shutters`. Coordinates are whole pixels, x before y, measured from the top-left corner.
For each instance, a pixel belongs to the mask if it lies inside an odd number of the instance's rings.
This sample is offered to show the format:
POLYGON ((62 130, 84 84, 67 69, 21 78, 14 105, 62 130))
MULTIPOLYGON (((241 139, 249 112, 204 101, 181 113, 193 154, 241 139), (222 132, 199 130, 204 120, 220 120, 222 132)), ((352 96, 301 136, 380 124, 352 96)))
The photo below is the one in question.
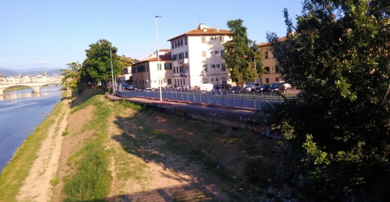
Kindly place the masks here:
POLYGON ((223 43, 231 40, 229 30, 211 28, 204 23, 168 41, 171 43, 172 84, 194 87, 202 83, 231 84, 221 56, 223 43))

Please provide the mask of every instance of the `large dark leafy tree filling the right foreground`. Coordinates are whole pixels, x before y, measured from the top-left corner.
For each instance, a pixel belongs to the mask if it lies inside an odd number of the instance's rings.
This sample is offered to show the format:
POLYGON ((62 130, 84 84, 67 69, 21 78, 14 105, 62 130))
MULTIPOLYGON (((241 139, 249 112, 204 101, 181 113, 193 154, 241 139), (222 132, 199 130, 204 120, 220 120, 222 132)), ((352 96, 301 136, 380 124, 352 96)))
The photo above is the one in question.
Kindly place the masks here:
POLYGON ((284 11, 285 41, 267 35, 279 72, 301 93, 264 111, 316 194, 388 197, 389 2, 305 0, 296 27, 284 11))

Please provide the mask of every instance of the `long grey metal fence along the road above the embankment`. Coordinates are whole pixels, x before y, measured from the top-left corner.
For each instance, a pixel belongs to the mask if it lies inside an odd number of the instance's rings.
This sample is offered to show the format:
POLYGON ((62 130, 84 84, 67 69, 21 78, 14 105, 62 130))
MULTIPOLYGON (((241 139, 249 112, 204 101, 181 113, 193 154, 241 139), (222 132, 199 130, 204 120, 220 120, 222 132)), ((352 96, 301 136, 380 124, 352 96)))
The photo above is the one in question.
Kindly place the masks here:
MULTIPOLYGON (((159 91, 116 91, 121 97, 150 97, 159 98, 159 91)), ((277 93, 272 92, 203 92, 185 90, 162 90, 162 99, 215 104, 230 107, 245 107, 260 109, 265 103, 281 103, 284 99, 277 93)), ((287 99, 296 94, 283 94, 287 99)))

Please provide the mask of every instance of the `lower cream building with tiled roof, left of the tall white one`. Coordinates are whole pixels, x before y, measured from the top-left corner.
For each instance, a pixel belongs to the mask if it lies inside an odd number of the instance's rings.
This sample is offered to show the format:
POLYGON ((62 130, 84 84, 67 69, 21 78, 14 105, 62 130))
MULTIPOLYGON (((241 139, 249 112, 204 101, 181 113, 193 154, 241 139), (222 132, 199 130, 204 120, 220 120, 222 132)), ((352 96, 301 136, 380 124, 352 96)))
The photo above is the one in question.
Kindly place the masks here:
POLYGON ((145 88, 158 88, 159 85, 173 86, 172 57, 170 49, 159 50, 146 59, 131 65, 132 84, 145 88))

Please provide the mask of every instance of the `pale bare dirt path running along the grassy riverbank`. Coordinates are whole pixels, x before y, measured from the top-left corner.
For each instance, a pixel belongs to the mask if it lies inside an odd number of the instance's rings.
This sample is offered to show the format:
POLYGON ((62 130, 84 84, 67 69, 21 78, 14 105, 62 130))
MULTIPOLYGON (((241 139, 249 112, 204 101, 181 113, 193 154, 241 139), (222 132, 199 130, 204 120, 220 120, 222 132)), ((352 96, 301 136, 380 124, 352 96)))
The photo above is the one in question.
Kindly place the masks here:
MULTIPOLYGON (((69 92, 68 92, 69 96, 69 92)), ((58 167, 58 159, 61 152, 62 132, 66 128, 66 119, 69 115, 70 100, 62 101, 61 116, 56 117, 54 123, 50 126, 41 148, 37 152, 37 159, 33 163, 30 173, 19 194, 16 197, 18 201, 47 202, 51 199, 50 181, 55 177, 58 167)))

